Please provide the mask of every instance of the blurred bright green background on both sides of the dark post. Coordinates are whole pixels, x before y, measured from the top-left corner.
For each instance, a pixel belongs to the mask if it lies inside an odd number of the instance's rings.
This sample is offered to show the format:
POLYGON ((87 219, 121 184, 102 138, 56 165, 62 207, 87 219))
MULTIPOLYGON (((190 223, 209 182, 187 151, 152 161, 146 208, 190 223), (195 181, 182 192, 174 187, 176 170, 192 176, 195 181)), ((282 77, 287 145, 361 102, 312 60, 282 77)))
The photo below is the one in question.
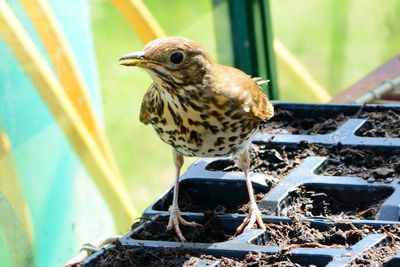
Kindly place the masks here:
MULTIPOLYGON (((192 38, 220 62, 229 63, 229 56, 216 53, 215 36, 221 34, 215 31, 216 24, 225 18, 214 18, 212 1, 144 3, 167 35, 192 38)), ((331 96, 399 52, 397 0, 271 0, 270 5, 275 38, 331 96)), ((141 211, 173 181, 171 149, 138 120, 150 77, 143 70, 118 65, 120 56, 140 51, 145 44, 109 1, 92 0, 91 8, 106 131, 141 211)), ((227 38, 227 47, 229 42, 227 38)), ((277 68, 281 100, 318 101, 279 61, 277 68)))

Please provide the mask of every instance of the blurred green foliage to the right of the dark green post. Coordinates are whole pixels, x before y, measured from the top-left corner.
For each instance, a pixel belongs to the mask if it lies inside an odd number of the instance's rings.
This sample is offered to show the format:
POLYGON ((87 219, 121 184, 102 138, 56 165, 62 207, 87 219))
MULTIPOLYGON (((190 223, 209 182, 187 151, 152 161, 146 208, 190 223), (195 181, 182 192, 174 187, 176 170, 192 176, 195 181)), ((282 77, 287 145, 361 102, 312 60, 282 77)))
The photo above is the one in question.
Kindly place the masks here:
MULTIPOLYGON (((397 0, 273 0, 275 37, 331 95, 399 53, 397 0)), ((283 100, 312 101, 278 66, 283 100)))

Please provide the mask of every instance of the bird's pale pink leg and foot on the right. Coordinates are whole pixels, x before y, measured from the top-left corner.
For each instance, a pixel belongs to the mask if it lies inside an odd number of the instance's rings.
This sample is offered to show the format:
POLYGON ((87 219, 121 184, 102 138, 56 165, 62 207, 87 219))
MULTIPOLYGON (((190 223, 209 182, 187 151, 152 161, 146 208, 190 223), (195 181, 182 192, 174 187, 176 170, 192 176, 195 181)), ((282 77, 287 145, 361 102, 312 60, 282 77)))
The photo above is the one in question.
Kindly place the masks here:
POLYGON ((257 223, 261 227, 261 229, 265 230, 265 225, 261 217, 261 211, 258 208, 256 200, 254 198, 253 186, 250 180, 250 156, 248 149, 245 149, 241 154, 239 154, 239 165, 246 177, 246 186, 250 198, 250 207, 249 213, 247 214, 243 223, 239 225, 239 227, 236 229, 236 234, 240 234, 241 232, 243 232, 243 230, 250 229, 251 227, 253 227, 254 223, 257 223))

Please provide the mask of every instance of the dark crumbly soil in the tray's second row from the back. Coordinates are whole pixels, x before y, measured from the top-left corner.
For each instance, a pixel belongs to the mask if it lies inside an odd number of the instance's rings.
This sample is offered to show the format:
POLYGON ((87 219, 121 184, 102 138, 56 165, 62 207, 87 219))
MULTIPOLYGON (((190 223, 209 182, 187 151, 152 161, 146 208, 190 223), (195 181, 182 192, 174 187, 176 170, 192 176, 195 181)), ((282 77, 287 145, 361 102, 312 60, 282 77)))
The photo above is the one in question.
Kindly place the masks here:
MULTIPOLYGON (((267 180, 270 185, 284 178, 309 156, 325 156, 327 161, 318 170, 320 175, 357 176, 364 179, 386 179, 400 177, 400 155, 372 148, 345 147, 340 143, 331 146, 300 142, 294 146, 274 147, 252 145, 250 149, 251 171, 263 173, 276 180, 267 180)), ((216 161, 218 162, 218 161, 216 161)), ((210 163, 206 169, 212 171, 240 171, 238 164, 231 162, 225 168, 210 163)))

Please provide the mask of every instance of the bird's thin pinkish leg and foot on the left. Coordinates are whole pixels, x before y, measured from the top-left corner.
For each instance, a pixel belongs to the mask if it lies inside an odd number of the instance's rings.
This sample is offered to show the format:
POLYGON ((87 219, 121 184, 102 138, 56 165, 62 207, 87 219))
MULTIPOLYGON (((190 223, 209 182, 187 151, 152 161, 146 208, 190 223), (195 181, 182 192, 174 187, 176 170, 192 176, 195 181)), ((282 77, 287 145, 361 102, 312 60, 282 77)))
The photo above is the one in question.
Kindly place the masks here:
POLYGON ((172 199, 172 205, 169 207, 169 222, 167 226, 167 231, 172 228, 175 229, 176 234, 178 235, 179 240, 185 242, 186 239, 182 234, 181 229, 179 228, 179 223, 187 226, 197 227, 201 226, 196 222, 188 222, 182 218, 181 212, 178 207, 178 194, 179 194, 179 175, 183 165, 183 156, 179 154, 175 149, 173 149, 173 157, 175 163, 175 187, 174 187, 174 196, 172 199))

